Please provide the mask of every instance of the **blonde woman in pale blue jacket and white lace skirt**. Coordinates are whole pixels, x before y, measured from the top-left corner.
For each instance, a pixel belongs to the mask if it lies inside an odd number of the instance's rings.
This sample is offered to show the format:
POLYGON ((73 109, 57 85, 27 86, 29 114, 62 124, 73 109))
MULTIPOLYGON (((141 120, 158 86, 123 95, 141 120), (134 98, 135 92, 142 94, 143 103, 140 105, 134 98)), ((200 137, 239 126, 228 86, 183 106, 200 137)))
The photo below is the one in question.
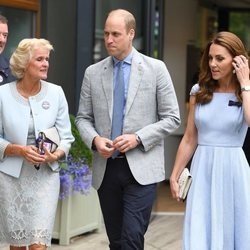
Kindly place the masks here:
POLYGON ((10 59, 17 81, 0 86, 0 245, 11 250, 51 245, 58 160, 74 141, 64 92, 44 81, 52 49, 45 39, 22 40, 10 59), (35 141, 51 127, 60 143, 53 153, 40 154, 35 141))

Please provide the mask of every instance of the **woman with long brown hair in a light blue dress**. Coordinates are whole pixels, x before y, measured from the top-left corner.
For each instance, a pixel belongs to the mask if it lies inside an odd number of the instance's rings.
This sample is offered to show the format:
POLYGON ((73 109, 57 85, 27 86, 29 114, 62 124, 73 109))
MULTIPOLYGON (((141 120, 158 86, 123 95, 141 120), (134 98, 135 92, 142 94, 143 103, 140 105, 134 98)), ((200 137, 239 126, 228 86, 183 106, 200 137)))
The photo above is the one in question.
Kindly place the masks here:
POLYGON ((242 150, 248 126, 248 55, 236 35, 220 32, 203 53, 170 177, 179 201, 177 180, 193 156, 183 250, 250 249, 250 168, 242 150))

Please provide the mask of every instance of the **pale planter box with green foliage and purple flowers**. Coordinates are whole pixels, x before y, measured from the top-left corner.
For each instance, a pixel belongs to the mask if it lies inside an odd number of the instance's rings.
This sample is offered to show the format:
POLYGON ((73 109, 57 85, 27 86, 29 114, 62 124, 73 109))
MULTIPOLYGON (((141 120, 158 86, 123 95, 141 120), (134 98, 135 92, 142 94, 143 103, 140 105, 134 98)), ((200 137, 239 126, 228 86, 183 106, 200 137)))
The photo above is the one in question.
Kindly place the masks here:
POLYGON ((60 195, 54 223, 53 239, 60 245, 68 245, 70 238, 101 225, 101 210, 97 192, 91 187, 92 152, 82 141, 70 115, 72 144, 67 159, 61 162, 60 195))

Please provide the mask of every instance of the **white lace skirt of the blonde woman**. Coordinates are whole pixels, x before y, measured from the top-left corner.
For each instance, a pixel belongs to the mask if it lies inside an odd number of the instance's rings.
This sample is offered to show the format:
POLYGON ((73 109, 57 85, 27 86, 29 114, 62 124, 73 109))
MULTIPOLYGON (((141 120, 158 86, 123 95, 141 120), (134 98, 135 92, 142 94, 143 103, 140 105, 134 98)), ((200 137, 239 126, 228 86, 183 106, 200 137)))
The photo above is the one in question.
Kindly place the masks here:
POLYGON ((0 172, 0 245, 50 246, 59 186, 48 165, 24 163, 19 178, 0 172))

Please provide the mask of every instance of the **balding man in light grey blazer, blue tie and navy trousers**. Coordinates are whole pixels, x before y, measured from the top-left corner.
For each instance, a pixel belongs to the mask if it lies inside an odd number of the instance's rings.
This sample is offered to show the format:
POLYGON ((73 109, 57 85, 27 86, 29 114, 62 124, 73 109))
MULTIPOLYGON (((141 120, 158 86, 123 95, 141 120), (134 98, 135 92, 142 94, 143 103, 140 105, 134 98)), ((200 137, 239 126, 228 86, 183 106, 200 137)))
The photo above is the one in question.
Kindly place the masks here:
POLYGON ((94 153, 93 186, 110 249, 144 248, 156 184, 165 179, 164 138, 180 125, 168 70, 162 61, 133 47, 135 29, 135 18, 128 11, 109 13, 104 40, 110 56, 86 69, 76 117, 81 137, 94 153), (120 99, 125 104, 117 112, 121 61, 124 98, 120 99), (112 138, 120 114, 123 129, 112 138))

